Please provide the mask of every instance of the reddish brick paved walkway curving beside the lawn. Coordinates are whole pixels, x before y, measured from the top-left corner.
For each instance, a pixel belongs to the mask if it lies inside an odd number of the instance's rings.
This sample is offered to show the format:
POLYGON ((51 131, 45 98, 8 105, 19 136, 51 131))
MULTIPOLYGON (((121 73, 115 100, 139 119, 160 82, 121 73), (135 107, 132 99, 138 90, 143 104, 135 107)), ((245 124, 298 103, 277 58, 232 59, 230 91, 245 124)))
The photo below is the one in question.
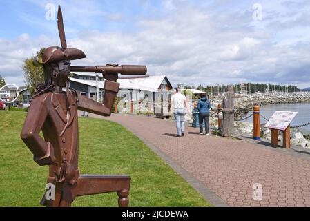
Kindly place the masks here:
POLYGON ((229 206, 310 206, 310 161, 243 140, 197 134, 186 127, 175 137, 170 119, 112 115, 157 146, 229 206), (253 184, 262 184, 262 200, 253 200, 253 184))

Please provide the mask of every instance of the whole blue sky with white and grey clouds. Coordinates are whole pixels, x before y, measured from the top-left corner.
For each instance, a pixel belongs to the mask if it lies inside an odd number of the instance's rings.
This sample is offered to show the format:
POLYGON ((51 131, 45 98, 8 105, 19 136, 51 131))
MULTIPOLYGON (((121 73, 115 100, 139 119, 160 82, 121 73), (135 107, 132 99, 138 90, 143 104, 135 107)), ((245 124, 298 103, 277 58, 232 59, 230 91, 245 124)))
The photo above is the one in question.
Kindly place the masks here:
POLYGON ((191 85, 310 86, 310 1, 1 0, 0 75, 23 85, 23 59, 59 46, 61 4, 73 65, 144 64, 191 85), (55 15, 56 16, 56 15, 55 15))

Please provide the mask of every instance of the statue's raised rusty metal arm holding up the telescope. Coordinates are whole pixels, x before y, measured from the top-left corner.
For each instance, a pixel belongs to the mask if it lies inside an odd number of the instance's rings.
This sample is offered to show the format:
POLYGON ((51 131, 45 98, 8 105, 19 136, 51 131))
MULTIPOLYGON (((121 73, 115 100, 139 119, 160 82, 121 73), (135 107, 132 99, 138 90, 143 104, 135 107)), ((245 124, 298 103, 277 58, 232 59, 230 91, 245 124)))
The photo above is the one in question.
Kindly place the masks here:
POLYGON ((81 111, 95 113, 97 115, 110 116, 119 83, 106 80, 104 83, 104 103, 100 104, 87 97, 78 95, 78 108, 81 111))

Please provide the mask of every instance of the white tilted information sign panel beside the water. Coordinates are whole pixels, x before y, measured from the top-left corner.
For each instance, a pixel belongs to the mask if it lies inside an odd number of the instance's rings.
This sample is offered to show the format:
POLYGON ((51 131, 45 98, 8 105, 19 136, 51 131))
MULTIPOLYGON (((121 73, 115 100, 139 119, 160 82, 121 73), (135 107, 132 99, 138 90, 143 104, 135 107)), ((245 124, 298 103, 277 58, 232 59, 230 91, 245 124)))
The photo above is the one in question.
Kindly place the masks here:
POLYGON ((294 111, 275 111, 266 124, 267 128, 284 131, 298 112, 294 111))

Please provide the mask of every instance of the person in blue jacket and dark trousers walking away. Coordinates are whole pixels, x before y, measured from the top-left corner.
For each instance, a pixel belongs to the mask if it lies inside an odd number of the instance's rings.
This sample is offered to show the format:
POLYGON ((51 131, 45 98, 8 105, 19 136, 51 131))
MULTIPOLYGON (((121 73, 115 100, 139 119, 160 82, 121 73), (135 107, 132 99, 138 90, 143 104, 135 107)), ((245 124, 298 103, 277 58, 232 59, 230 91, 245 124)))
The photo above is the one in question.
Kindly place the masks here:
POLYGON ((212 109, 211 103, 209 99, 206 98, 206 94, 202 93, 200 95, 201 99, 198 102, 197 108, 199 111, 199 131, 200 134, 204 134, 204 127, 206 130, 206 135, 209 135, 209 117, 210 117, 210 109, 212 109))

